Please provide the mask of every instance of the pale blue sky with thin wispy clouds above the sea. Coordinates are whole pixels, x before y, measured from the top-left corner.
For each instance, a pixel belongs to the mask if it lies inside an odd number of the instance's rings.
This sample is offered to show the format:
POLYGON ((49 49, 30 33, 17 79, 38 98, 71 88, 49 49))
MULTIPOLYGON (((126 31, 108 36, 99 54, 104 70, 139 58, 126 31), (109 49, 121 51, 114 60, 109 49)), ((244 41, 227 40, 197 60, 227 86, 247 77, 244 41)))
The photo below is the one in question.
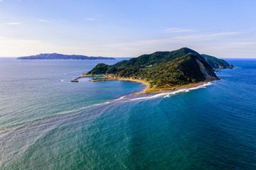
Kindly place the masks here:
POLYGON ((0 0, 0 57, 256 57, 255 0, 0 0))

